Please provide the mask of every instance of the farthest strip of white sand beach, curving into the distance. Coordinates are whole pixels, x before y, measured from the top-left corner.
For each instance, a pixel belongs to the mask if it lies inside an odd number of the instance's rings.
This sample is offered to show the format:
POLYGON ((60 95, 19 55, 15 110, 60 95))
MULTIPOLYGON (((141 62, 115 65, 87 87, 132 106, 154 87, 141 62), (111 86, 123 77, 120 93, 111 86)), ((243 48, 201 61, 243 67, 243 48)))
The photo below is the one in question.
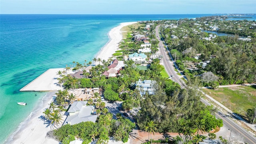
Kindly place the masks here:
POLYGON ((137 22, 123 22, 119 26, 112 28, 108 33, 109 41, 108 43, 100 50, 97 54, 96 58, 101 58, 102 60, 108 60, 112 57, 112 54, 118 50, 118 43, 122 41, 122 31, 121 28, 124 26, 128 26, 131 24, 135 24, 137 22))

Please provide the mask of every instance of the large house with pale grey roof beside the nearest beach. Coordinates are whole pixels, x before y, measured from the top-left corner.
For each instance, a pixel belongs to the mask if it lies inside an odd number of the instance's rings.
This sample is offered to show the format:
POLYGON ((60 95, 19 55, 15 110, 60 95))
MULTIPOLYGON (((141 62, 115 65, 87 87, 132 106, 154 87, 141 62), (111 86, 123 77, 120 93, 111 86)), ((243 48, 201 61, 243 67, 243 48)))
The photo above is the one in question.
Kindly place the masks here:
POLYGON ((64 121, 65 124, 78 124, 80 122, 96 122, 97 115, 92 115, 94 106, 86 106, 87 101, 76 101, 68 109, 68 116, 64 121))

